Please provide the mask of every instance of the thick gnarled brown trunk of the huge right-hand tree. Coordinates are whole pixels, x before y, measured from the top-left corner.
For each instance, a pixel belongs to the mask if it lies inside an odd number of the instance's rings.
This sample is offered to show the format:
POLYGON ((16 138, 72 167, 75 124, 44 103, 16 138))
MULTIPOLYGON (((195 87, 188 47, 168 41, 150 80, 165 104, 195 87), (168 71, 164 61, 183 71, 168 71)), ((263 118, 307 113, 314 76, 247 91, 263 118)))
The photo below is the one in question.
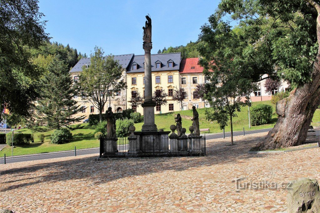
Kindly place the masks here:
MULTIPOLYGON (((320 9, 320 8, 319 8, 320 9)), ((319 12, 319 11, 318 11, 319 12)), ((317 40, 320 43, 320 18, 317 18, 317 40)), ((253 150, 267 150, 298 146, 306 141, 308 129, 320 104, 320 46, 313 63, 311 81, 294 89, 289 97, 276 103, 279 116, 276 125, 263 142, 253 150)))

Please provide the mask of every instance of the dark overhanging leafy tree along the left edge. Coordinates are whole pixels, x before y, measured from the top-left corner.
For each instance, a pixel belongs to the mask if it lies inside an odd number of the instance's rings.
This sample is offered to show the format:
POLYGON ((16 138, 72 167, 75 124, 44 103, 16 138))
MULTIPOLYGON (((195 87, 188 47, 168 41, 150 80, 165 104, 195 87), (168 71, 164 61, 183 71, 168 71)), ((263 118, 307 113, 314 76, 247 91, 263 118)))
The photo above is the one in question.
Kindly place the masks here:
MULTIPOLYGON (((29 48, 49 40, 36 0, 0 0, 0 111, 28 116, 39 97, 42 72, 31 62, 29 48)), ((0 115, 1 117, 1 115, 0 115)))

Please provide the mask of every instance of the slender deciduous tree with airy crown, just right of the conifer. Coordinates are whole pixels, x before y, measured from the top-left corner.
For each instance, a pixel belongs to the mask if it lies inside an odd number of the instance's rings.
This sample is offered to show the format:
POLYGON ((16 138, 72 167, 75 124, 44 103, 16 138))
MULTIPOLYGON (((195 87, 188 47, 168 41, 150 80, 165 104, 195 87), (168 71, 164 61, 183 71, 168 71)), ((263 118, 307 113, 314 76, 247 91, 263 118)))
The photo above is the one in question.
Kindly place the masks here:
POLYGON ((83 100, 90 101, 98 108, 100 122, 109 94, 114 94, 127 87, 119 61, 114 60, 112 55, 104 57, 103 54, 102 48, 97 46, 94 48, 94 53, 90 55, 90 66, 82 67, 77 81, 79 94, 82 94, 83 100))

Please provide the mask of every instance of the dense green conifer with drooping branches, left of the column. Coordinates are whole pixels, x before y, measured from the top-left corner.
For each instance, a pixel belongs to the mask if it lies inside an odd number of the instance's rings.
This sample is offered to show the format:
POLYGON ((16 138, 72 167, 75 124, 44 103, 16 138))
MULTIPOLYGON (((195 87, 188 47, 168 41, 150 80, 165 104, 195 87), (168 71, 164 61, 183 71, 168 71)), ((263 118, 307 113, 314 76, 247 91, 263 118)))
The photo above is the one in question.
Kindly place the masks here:
POLYGON ((53 57, 42 83, 44 85, 41 91, 42 98, 38 100, 36 106, 36 124, 31 123, 28 126, 39 132, 61 129, 63 126, 70 129, 80 128, 81 124, 76 127, 68 126, 82 120, 84 116, 74 116, 82 109, 73 100, 76 88, 70 78, 67 64, 59 55, 53 57), (37 126, 38 122, 43 122, 45 126, 37 126))

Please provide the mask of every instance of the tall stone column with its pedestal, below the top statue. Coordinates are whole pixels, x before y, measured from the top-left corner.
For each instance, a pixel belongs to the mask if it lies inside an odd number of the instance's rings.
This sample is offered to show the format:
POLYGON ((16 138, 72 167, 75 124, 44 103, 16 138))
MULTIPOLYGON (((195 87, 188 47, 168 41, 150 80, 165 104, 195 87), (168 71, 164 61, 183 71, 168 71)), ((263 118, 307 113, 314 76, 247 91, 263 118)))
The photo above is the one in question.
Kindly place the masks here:
POLYGON ((157 126, 155 124, 155 106, 156 103, 152 101, 152 77, 151 77, 151 49, 152 42, 143 42, 144 49, 144 103, 143 107, 144 124, 142 125, 142 132, 156 132, 157 126))

